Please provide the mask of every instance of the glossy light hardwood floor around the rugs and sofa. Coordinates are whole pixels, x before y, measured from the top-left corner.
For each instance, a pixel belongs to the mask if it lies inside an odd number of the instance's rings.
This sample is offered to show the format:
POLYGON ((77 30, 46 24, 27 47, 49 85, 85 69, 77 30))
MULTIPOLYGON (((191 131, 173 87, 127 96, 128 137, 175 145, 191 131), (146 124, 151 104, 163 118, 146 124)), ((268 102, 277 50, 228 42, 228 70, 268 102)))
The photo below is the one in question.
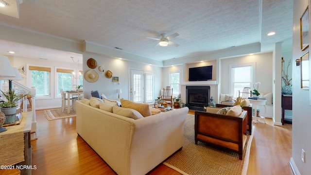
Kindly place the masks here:
MULTIPOLYGON (((116 175, 77 135, 75 118, 48 121, 43 110, 37 110, 36 121, 38 139, 31 141, 37 167, 33 175, 116 175)), ((294 175, 289 165, 292 125, 274 126, 271 119, 266 121, 255 124, 247 175, 294 175)), ((180 174, 161 164, 149 175, 180 174)))

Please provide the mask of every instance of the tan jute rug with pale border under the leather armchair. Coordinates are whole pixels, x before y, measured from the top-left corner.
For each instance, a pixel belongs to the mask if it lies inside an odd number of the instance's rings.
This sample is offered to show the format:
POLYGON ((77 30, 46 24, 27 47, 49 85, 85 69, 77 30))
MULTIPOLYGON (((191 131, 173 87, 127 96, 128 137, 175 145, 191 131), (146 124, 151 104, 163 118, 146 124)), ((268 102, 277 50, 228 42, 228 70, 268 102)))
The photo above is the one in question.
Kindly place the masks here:
MULTIPOLYGON (((254 135, 255 126, 252 128, 254 135)), ((184 146, 163 164, 183 175, 246 175, 253 135, 248 137, 243 159, 237 153, 194 142, 194 115, 188 114, 184 124, 184 146)))

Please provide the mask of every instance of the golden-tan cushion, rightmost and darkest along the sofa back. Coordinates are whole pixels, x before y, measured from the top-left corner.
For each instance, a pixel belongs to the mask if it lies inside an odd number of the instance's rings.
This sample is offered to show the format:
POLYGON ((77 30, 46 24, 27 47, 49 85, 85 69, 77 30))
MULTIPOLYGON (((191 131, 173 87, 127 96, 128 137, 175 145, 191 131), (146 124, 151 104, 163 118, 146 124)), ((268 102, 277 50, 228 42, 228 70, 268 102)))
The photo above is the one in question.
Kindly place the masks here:
POLYGON ((148 117, 151 116, 151 110, 148 104, 135 103, 129 100, 121 99, 121 105, 125 108, 131 108, 137 110, 142 116, 148 117))

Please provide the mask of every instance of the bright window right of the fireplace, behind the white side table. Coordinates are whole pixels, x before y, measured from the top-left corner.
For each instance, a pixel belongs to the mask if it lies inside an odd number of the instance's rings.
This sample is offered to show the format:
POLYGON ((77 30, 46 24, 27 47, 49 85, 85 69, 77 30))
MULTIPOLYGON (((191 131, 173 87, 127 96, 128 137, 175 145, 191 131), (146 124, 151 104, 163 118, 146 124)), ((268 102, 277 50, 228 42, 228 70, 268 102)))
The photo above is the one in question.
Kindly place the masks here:
POLYGON ((234 97, 239 95, 239 90, 242 91, 243 88, 252 88, 255 63, 241 64, 230 66, 231 68, 231 92, 234 97))

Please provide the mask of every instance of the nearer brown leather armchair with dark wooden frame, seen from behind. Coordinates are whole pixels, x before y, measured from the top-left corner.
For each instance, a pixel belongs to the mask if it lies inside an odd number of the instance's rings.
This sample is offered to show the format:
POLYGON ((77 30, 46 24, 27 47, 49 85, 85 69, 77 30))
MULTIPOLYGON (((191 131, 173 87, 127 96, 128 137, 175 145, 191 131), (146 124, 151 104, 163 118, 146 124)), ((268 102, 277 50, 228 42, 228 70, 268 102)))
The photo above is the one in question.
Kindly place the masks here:
POLYGON ((220 109, 207 107, 207 112, 195 111, 195 144, 203 141, 228 149, 238 153, 242 160, 247 140, 247 111, 242 111, 235 117, 216 114, 220 109))

